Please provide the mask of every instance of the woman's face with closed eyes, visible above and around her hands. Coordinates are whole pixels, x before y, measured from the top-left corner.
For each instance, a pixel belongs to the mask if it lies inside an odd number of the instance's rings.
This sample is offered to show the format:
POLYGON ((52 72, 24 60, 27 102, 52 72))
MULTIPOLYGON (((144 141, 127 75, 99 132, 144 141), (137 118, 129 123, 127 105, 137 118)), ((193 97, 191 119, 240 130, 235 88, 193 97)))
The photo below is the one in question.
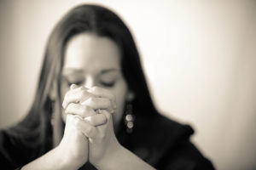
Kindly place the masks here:
MULTIPOLYGON (((124 113, 128 87, 121 72, 119 47, 108 37, 80 33, 67 42, 62 70, 61 96, 71 84, 91 88, 108 89, 116 98, 117 109, 113 113, 115 130, 124 113)), ((66 119, 64 111, 62 118, 66 119)))

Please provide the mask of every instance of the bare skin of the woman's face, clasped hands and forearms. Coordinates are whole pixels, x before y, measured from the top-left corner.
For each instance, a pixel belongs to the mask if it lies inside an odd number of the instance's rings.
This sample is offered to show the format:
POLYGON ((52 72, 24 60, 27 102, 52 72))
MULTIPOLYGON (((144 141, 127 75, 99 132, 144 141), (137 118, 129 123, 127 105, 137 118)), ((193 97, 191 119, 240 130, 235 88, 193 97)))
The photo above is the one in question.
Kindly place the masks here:
POLYGON ((120 145, 114 133, 125 100, 133 98, 120 58, 118 46, 108 37, 83 33, 67 42, 61 84, 63 138, 22 169, 79 169, 87 161, 100 170, 154 169, 120 145))

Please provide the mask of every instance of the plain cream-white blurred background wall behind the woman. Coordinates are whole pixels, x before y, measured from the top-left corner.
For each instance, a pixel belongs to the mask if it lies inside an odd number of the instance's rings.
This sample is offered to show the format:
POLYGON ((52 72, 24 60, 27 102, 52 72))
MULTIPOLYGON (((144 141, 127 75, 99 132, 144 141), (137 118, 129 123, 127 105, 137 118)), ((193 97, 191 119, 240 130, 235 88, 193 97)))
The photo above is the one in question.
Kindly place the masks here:
POLYGON ((154 103, 218 169, 256 168, 255 1, 0 1, 0 127, 32 105, 49 32, 79 3, 131 28, 154 103))

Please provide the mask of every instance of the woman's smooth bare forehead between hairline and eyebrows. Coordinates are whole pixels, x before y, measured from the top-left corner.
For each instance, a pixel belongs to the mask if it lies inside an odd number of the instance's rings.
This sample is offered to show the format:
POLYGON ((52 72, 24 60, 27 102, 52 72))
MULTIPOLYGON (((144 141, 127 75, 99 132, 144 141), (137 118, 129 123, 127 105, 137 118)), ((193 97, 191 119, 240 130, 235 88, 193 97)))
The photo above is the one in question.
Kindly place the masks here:
POLYGON ((91 33, 81 33, 72 37, 67 42, 64 57, 63 69, 120 69, 118 45, 108 37, 98 37, 91 33))

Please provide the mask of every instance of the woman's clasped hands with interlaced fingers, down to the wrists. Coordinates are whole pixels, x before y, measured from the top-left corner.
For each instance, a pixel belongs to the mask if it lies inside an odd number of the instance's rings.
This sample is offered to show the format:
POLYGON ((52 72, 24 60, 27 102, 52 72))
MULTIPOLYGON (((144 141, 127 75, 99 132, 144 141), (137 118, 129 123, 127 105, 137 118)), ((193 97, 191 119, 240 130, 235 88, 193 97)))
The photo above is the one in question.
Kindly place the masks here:
POLYGON ((79 168, 90 161, 95 167, 111 159, 119 142, 113 132, 115 98, 107 89, 72 85, 63 104, 67 114, 61 150, 66 161, 79 168))

